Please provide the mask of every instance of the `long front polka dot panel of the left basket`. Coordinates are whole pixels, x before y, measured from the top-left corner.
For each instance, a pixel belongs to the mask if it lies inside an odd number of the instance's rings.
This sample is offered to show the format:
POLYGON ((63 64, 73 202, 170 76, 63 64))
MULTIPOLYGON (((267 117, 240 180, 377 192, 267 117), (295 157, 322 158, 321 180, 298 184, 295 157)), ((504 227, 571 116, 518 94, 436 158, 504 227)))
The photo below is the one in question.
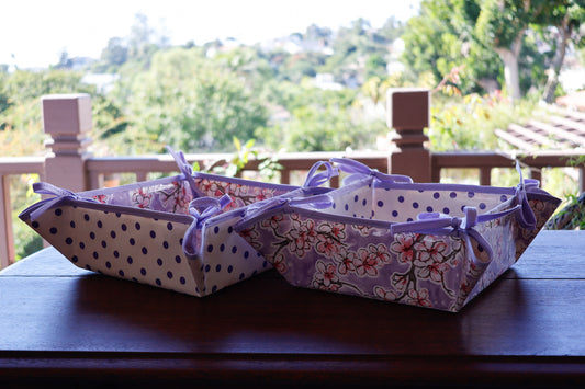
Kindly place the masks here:
POLYGON ((80 213, 79 208, 65 205, 58 208, 58 217, 55 213, 46 213, 36 220, 41 234, 43 231, 46 234, 55 229, 61 230, 58 234, 66 238, 57 249, 71 262, 82 268, 89 265, 89 270, 105 275, 193 294, 196 279, 189 261, 182 261, 182 247, 178 243, 171 247, 169 243, 176 241, 171 239, 175 233, 187 231, 188 224, 173 222, 177 231, 170 232, 167 221, 157 222, 148 217, 125 214, 116 216, 99 209, 83 209, 80 213), (128 222, 130 217, 139 221, 128 222), (146 226, 149 228, 144 228, 146 226), (83 236, 89 239, 81 240, 83 236), (164 249, 164 244, 167 249, 164 249), (164 251, 168 252, 167 255, 160 256, 164 251), (172 253, 171 260, 164 261, 169 253, 172 253), (181 258, 180 263, 175 260, 176 256, 181 258), (168 274, 181 274, 182 282, 168 277, 168 274))

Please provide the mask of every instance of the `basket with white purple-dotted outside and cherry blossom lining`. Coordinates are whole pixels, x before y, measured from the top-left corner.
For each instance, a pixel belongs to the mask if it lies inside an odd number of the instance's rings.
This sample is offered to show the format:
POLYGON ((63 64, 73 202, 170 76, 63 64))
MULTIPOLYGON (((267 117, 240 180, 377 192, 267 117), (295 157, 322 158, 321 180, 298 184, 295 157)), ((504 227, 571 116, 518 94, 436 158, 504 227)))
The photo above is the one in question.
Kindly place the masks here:
POLYGON ((179 175, 79 193, 37 183, 53 197, 20 218, 79 267, 202 297, 271 267, 234 232, 239 209, 303 196, 337 174, 319 162, 303 186, 269 184, 193 172, 170 151, 179 175))

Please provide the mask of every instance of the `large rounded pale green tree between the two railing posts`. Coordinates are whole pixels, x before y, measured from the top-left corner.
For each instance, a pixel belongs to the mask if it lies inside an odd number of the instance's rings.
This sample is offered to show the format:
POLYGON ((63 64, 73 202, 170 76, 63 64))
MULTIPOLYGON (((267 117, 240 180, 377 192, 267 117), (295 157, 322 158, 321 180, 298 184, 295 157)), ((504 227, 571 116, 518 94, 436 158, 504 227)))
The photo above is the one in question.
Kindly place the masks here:
POLYGON ((268 114, 234 71, 200 48, 157 52, 150 68, 121 82, 115 94, 127 106, 126 147, 162 151, 226 151, 233 138, 249 139, 268 114))

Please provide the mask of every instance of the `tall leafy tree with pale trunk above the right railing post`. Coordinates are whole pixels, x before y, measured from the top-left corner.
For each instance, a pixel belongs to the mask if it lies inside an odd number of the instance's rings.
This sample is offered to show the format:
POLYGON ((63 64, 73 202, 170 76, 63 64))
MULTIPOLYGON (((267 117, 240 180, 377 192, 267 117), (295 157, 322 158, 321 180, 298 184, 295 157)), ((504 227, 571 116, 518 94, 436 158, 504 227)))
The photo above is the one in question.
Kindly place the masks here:
MULTIPOLYGON (((566 39, 550 27, 564 20, 574 28, 580 9, 570 0, 427 0, 403 35, 405 64, 415 76, 434 72, 436 82, 463 65, 458 87, 464 94, 493 89, 488 85, 497 81, 518 100, 522 91, 543 84, 547 67, 556 79, 566 39), (558 49, 558 60, 539 50, 542 42, 558 49)), ((577 35, 572 36, 576 42, 577 35)))

